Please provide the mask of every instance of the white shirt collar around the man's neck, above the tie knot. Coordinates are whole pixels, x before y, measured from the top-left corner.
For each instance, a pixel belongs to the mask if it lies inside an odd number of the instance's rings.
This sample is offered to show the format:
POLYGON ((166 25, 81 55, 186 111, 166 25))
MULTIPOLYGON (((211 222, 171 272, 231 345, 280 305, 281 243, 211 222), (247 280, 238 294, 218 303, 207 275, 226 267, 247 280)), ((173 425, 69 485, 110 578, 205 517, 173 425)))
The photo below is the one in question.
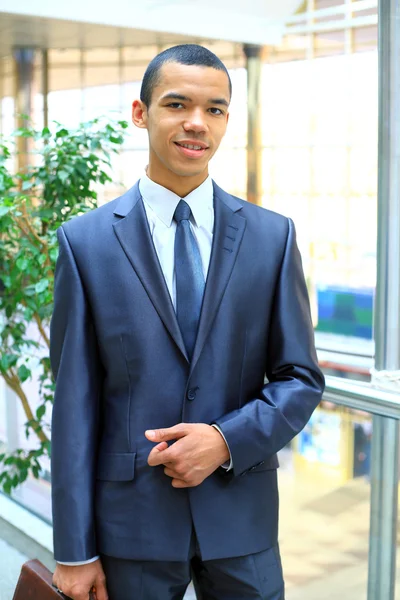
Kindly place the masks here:
MULTIPOLYGON (((147 175, 143 175, 140 179, 139 190, 144 202, 167 227, 171 227, 175 209, 181 200, 180 196, 155 183, 147 175)), ((213 210, 213 199, 214 189, 210 176, 183 198, 190 206, 197 227, 209 228, 209 213, 213 210)))

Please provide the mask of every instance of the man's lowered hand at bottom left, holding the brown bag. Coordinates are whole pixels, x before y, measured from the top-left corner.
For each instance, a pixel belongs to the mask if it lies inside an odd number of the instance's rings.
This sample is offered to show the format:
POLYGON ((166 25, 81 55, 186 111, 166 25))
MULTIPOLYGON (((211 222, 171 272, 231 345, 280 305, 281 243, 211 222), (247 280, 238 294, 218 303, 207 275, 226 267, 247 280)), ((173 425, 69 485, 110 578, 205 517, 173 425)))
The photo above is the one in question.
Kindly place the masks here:
POLYGON ((89 600, 92 587, 96 600, 108 600, 106 578, 100 559, 76 566, 57 563, 53 585, 73 600, 89 600))

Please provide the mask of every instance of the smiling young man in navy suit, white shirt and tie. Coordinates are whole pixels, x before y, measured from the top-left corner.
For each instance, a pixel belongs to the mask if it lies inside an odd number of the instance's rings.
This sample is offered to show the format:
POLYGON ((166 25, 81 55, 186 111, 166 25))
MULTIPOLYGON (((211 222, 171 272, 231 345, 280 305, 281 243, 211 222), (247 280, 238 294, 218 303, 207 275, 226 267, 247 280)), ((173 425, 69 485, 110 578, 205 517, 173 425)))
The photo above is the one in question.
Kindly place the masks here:
POLYGON ((208 175, 230 98, 205 48, 159 54, 132 111, 147 173, 58 232, 54 584, 74 600, 181 599, 191 578, 284 598, 276 453, 324 383, 293 223, 208 175))

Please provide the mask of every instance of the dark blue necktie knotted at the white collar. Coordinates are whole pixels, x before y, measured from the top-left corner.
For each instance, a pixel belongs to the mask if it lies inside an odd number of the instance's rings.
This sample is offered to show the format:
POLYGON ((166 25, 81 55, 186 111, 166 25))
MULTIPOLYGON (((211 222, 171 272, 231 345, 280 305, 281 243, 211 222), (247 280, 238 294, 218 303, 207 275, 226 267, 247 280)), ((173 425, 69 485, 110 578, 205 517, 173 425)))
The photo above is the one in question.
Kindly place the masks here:
POLYGON ((199 247, 190 229, 191 212, 190 206, 181 200, 174 214, 176 316, 189 359, 196 343, 205 286, 199 247))

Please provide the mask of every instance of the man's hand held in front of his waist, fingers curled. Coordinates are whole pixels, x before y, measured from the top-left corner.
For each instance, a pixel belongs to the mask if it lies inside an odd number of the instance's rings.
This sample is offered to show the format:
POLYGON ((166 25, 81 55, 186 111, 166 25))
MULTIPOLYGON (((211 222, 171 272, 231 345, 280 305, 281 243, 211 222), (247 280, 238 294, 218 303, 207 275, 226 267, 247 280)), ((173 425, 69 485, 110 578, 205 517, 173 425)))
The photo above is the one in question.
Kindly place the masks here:
POLYGON ((176 488, 200 485, 229 460, 224 438, 205 423, 179 423, 167 429, 146 431, 148 440, 158 442, 147 460, 151 467, 165 465, 164 473, 176 488), (168 441, 176 440, 168 446, 168 441))

